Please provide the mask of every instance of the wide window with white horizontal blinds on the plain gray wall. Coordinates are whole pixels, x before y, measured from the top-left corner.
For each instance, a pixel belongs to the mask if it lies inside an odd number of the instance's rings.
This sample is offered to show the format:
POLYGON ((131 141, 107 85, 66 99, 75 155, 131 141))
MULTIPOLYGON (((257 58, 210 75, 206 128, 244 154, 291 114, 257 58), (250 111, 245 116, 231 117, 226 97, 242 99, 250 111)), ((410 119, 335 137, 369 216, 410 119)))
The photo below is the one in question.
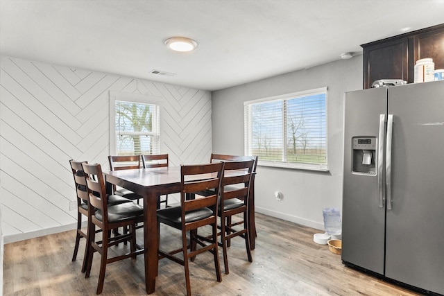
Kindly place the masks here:
POLYGON ((245 153, 259 165, 327 171, 327 88, 244 103, 245 153))

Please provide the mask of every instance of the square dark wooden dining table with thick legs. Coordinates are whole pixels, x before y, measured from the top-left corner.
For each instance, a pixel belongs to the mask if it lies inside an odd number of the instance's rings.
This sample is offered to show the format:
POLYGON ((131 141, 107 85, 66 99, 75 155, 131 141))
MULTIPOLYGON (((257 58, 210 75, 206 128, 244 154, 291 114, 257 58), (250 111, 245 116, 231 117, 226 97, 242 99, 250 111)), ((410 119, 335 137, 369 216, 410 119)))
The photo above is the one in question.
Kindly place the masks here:
MULTIPOLYGON (((157 277, 157 198, 160 195, 180 192, 180 166, 162 168, 139 168, 132 170, 104 171, 107 192, 112 193, 113 185, 133 191, 144 198, 144 260, 146 293, 155 291, 157 277)), ((254 178, 254 177, 253 177, 254 178)), ((254 226, 254 182, 250 189, 250 244, 255 246, 254 226), (253 230, 253 231, 252 231, 253 230)))

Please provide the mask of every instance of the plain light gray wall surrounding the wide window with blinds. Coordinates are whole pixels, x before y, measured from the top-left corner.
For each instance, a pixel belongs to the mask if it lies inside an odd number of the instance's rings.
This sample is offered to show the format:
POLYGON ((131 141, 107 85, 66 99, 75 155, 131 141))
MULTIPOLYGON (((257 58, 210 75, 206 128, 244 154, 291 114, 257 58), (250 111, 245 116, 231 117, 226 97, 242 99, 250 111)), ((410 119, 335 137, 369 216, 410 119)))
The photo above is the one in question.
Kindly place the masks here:
POLYGON ((302 171, 258 166, 256 211, 323 229, 322 209, 342 207, 343 93, 362 89, 362 56, 212 93, 214 153, 244 154, 244 101, 327 87, 328 166, 302 171), (281 191, 282 201, 274 192, 281 191))

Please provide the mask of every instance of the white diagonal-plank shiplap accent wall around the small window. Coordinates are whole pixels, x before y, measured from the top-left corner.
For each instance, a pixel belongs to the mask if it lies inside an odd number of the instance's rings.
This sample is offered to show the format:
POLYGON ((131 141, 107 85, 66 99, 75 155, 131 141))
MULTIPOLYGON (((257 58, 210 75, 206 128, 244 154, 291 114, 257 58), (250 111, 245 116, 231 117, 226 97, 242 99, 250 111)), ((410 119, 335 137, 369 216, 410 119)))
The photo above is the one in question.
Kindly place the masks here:
POLYGON ((155 96, 171 166, 208 162, 211 93, 0 57, 0 200, 5 243, 73 229, 69 159, 108 169, 110 92, 155 96))

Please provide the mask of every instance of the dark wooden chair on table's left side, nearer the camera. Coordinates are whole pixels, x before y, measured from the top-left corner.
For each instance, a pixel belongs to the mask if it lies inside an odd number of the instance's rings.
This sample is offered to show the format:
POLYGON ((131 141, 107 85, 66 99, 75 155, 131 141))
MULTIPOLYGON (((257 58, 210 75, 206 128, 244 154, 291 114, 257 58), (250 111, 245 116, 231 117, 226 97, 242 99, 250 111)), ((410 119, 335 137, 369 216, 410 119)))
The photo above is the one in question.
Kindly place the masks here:
POLYGON ((101 241, 96 241, 96 233, 89 230, 88 250, 87 250, 87 269, 85 277, 89 277, 94 252, 101 254, 101 264, 99 272, 99 283, 97 284, 96 294, 102 293, 103 282, 105 280, 105 270, 108 263, 133 258, 143 254, 142 247, 136 244, 136 223, 144 220, 144 209, 135 202, 125 202, 123 204, 108 205, 105 189, 105 180, 100 164, 82 164, 85 173, 89 198, 89 229, 99 227, 102 230, 101 241), (128 234, 119 236, 110 236, 112 229, 119 227, 129 227, 128 234), (108 258, 108 248, 121 242, 130 243, 130 252, 108 258))

